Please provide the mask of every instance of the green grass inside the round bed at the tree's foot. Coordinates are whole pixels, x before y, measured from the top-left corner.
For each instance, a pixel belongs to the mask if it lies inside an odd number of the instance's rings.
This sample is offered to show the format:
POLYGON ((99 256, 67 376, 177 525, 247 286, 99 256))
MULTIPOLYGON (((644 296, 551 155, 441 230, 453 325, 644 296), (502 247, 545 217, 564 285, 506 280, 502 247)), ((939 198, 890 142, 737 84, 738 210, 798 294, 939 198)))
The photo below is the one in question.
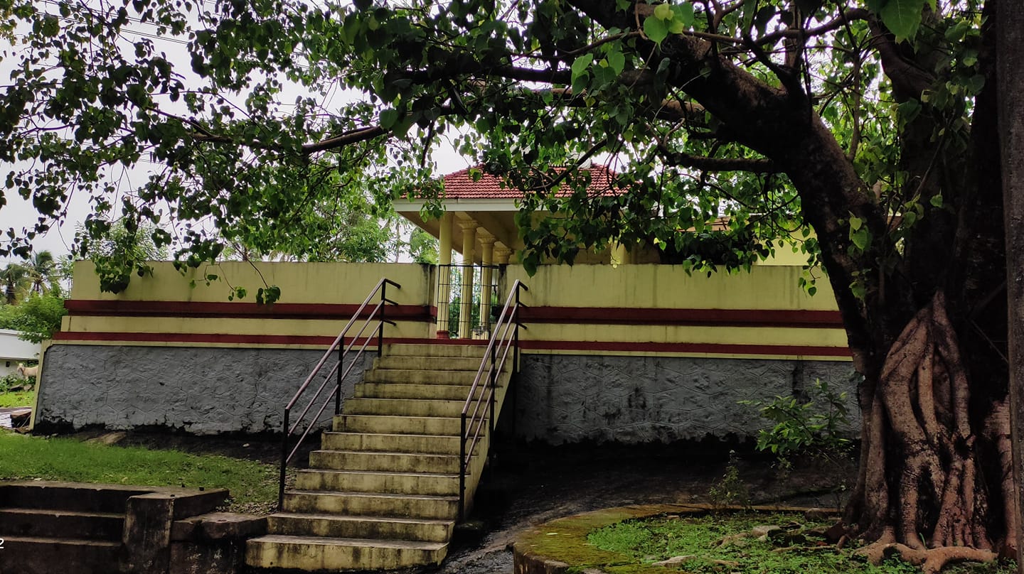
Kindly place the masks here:
MULTIPOLYGON (((630 520, 592 531, 587 540, 597 548, 622 555, 638 565, 651 564, 676 556, 694 556, 683 565, 693 574, 718 574, 723 563, 729 572, 742 574, 919 574, 920 569, 893 561, 871 566, 854 558, 851 548, 836 550, 813 534, 814 527, 827 524, 808 523, 801 515, 765 515, 757 513, 719 514, 701 517, 660 517, 630 520), (794 525, 801 538, 787 541, 761 541, 753 537, 719 545, 731 534, 749 532, 758 525, 794 525), (797 527, 799 525, 799 527, 797 527), (781 549, 780 548, 784 548, 781 549)), ((784 537, 782 537, 784 538, 784 537)), ((626 568, 622 572, 627 572, 626 568)), ((618 572, 620 570, 615 570, 618 572)), ((943 573, 1014 574, 1013 564, 950 565, 943 573)))

